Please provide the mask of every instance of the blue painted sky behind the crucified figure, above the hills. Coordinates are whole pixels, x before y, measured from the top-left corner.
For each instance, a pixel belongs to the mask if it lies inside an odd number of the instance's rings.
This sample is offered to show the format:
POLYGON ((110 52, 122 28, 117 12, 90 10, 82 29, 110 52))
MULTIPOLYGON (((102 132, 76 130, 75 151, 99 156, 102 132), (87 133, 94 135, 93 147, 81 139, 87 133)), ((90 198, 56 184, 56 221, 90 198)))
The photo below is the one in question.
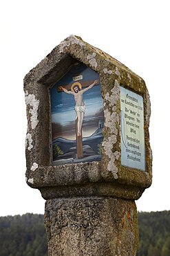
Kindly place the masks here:
MULTIPOLYGON (((70 71, 68 71, 61 80, 56 82, 52 89, 50 89, 52 122, 59 122, 61 125, 67 125, 68 122, 75 120, 76 113, 74 110, 74 96, 64 92, 58 92, 57 87, 73 83, 73 77, 76 75, 83 75, 83 80, 78 80, 78 82, 99 78, 98 73, 92 71, 92 69, 88 68, 84 64, 72 66, 70 71)), ((94 115, 99 111, 99 109, 103 108, 100 84, 89 89, 89 91, 86 91, 83 94, 83 100, 86 105, 85 118, 87 118, 87 116, 94 115)))

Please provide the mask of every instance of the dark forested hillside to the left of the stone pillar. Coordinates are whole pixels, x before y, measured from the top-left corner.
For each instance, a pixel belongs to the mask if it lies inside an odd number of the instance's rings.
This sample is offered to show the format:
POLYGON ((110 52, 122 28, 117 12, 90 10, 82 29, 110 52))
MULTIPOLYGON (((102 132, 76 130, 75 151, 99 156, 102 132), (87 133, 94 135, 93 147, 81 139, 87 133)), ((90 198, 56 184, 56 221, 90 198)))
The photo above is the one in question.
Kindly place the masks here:
POLYGON ((1 256, 47 256, 42 214, 0 217, 1 256))

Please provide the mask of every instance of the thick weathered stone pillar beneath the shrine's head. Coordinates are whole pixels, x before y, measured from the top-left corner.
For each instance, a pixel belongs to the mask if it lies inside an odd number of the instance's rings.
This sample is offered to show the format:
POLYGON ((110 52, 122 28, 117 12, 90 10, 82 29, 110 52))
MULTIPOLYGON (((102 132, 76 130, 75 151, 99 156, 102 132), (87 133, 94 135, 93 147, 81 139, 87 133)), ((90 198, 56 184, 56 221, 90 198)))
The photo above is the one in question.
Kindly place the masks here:
POLYGON ((136 255, 138 223, 131 200, 49 199, 45 228, 49 255, 136 255))

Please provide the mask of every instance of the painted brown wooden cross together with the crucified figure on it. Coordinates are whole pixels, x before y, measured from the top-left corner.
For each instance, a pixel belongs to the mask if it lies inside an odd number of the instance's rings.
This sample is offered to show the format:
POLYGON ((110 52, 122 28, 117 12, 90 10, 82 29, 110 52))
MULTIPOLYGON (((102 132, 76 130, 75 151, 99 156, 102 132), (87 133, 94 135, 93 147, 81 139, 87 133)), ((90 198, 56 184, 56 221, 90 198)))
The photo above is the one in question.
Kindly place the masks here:
POLYGON ((83 158, 83 136, 82 124, 85 114, 85 103, 83 101, 83 93, 91 89, 94 85, 98 84, 99 80, 74 82, 72 84, 65 84, 58 87, 58 92, 64 91, 65 93, 74 96, 76 103, 76 158, 83 158))

